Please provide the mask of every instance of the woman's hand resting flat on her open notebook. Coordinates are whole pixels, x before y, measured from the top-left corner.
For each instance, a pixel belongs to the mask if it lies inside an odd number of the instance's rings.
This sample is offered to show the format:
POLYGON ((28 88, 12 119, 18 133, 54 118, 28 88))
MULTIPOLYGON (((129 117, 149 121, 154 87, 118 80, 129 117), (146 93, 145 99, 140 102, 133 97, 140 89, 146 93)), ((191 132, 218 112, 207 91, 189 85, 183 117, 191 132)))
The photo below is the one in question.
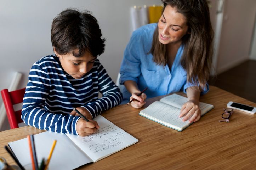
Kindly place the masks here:
POLYGON ((201 117, 201 110, 199 108, 199 101, 189 100, 184 103, 181 107, 181 113, 179 117, 183 117, 182 121, 186 121, 189 119, 189 122, 196 122, 201 117))

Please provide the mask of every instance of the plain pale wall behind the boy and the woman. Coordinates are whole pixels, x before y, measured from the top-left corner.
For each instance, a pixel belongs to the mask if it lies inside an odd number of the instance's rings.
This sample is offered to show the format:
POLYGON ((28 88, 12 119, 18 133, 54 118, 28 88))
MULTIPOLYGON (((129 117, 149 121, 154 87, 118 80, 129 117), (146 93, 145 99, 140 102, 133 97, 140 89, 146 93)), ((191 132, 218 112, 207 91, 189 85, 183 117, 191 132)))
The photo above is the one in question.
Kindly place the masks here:
MULTIPOLYGON (((106 38, 99 56, 114 81, 123 51, 132 33, 130 8, 160 5, 160 0, 1 0, 0 1, 0 89, 8 88, 14 72, 23 73, 19 88, 25 87, 34 62, 53 54, 51 23, 62 10, 87 9, 97 18, 106 38)), ((0 97, 0 104, 2 98, 0 97)))

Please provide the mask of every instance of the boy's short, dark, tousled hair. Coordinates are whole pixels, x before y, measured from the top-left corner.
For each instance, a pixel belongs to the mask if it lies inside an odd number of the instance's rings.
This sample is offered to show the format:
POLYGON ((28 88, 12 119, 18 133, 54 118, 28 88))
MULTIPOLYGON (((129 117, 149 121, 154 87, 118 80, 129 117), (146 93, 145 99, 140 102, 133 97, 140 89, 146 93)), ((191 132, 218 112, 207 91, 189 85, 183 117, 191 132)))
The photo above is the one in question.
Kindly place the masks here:
POLYGON ((52 22, 52 46, 61 55, 72 52, 75 57, 80 57, 88 51, 97 57, 105 47, 105 38, 101 36, 97 19, 90 11, 66 9, 52 22), (75 49, 78 49, 78 53, 74 53, 75 49))

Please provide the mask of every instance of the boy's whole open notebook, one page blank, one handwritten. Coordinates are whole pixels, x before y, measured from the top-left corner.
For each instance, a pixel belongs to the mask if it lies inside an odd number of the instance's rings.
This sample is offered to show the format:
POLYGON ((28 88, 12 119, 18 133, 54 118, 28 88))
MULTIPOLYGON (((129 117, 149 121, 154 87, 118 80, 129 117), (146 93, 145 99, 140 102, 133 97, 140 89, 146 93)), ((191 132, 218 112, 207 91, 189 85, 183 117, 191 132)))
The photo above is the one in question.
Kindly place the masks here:
MULTIPOLYGON (((53 140, 57 140, 49 170, 70 170, 90 162, 97 162, 115 152, 118 152, 138 142, 124 130, 98 115, 95 119, 101 127, 97 133, 86 137, 55 132, 43 132, 34 135, 38 162, 47 159, 53 140)), ((10 148, 15 153, 22 166, 31 164, 27 138, 10 142, 10 148)))

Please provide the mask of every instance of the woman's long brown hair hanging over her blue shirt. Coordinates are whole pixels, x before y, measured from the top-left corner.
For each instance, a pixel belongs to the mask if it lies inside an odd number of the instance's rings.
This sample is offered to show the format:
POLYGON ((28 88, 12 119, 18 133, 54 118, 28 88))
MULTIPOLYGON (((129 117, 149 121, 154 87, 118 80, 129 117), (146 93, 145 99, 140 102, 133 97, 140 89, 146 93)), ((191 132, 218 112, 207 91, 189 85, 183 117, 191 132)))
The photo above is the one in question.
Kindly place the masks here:
MULTIPOLYGON (((183 14, 187 20, 187 26, 191 34, 182 37, 184 45, 181 65, 187 71, 187 81, 202 90, 209 79, 213 47, 212 40, 214 32, 212 30, 209 7, 206 0, 162 0, 164 9, 171 5, 178 13, 183 14)), ((158 26, 153 35, 150 53, 153 60, 159 65, 167 64, 166 45, 158 40, 158 26)))

